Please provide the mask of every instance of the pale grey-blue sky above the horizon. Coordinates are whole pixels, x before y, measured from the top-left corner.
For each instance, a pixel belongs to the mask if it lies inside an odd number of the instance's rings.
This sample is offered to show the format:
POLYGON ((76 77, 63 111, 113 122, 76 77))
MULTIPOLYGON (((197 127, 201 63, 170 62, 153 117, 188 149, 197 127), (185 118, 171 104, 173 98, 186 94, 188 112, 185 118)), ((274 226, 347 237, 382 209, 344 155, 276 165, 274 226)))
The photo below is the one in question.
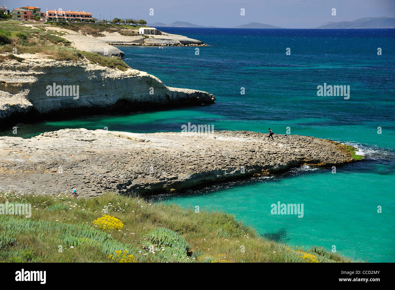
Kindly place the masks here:
MULTIPOLYGON (((260 22, 284 28, 315 28, 324 22, 363 17, 395 17, 395 0, 3 0, 7 9, 23 6, 79 10, 100 19, 144 19, 148 23, 186 21, 203 26, 232 27, 260 22), (153 14, 150 15, 150 9, 153 14), (245 15, 241 15, 241 9, 245 15), (336 9, 336 16, 332 15, 336 9), (152 10, 151 10, 152 11, 152 10)), ((152 13, 151 13, 152 14, 152 13)))

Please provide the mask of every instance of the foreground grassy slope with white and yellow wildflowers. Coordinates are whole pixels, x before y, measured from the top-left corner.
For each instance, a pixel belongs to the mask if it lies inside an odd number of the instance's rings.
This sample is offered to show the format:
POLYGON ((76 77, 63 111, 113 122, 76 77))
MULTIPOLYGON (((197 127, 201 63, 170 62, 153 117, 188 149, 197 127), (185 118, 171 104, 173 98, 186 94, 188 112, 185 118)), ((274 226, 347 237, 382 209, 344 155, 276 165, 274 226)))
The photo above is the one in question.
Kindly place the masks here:
POLYGON ((108 258, 116 250, 127 250, 137 262, 350 262, 322 248, 303 251, 258 238, 233 215, 218 211, 195 213, 174 204, 149 204, 115 194, 85 200, 0 193, 0 204, 6 201, 31 203, 32 217, 0 215, 0 261, 4 262, 117 262, 108 258), (92 223, 104 215, 105 206, 108 215, 124 223, 122 230, 104 232, 92 223), (177 233, 170 234, 177 247, 160 244, 167 230, 150 241, 157 234, 150 231, 163 228, 181 234, 178 238, 177 233))

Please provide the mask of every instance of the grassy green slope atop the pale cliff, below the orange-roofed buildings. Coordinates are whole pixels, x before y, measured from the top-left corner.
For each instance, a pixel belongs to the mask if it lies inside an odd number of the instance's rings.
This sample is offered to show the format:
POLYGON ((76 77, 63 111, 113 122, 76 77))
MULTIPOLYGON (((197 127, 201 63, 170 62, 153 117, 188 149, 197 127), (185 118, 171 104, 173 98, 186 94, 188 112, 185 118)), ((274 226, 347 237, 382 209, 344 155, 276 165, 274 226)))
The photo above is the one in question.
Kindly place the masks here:
MULTIPOLYGON (((87 24, 88 25, 88 24, 87 24)), ((61 37, 64 32, 56 31, 56 26, 35 25, 32 29, 21 25, 18 21, 0 22, 0 54, 9 52, 7 56, 0 56, 0 62, 6 59, 17 59, 12 55, 13 49, 17 54, 43 53, 55 60, 70 60, 78 62, 87 58, 92 64, 117 68, 126 71, 129 68, 120 58, 104 57, 96 53, 79 51, 70 47, 70 41, 61 37), (44 27, 50 27, 46 30, 44 27)))

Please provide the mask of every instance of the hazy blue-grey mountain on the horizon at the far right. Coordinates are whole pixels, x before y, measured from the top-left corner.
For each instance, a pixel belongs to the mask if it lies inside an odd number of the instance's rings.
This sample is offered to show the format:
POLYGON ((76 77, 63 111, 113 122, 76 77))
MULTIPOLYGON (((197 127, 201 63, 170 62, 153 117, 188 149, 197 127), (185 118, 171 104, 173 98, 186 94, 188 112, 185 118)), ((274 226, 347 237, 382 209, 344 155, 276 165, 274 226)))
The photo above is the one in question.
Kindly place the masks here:
POLYGON ((354 21, 325 22, 317 28, 395 28, 395 18, 365 17, 354 21))

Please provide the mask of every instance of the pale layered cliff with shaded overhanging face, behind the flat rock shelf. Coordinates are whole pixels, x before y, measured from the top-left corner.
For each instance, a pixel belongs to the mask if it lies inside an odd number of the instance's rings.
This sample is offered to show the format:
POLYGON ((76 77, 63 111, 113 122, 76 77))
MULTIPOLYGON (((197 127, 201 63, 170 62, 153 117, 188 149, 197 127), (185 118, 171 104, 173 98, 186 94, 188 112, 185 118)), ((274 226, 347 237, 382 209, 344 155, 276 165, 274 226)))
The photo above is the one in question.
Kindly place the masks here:
MULTIPOLYGON (((23 62, 0 63, 0 125, 14 115, 34 110, 40 114, 71 109, 108 108, 119 101, 137 110, 145 107, 177 107, 213 103, 207 92, 169 88, 143 71, 120 71, 87 60, 56 61, 44 55, 20 54, 23 62), (49 87, 72 86, 78 96, 50 94, 49 87)), ((66 92, 69 92, 68 90, 66 92)))

